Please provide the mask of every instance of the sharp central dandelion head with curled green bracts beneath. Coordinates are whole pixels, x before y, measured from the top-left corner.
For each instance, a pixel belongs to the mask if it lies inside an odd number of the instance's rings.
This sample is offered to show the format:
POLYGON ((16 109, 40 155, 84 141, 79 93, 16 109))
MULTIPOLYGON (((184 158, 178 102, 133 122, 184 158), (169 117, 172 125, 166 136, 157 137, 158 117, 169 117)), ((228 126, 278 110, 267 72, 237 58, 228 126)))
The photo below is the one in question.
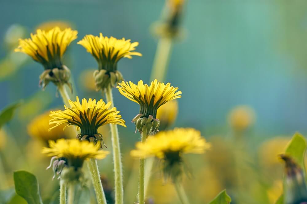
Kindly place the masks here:
POLYGON ((117 88, 123 96, 140 105, 140 113, 132 119, 132 122, 139 132, 143 132, 145 127, 147 134, 150 132, 155 134, 158 131, 160 125, 156 119, 158 108, 170 100, 181 98, 181 91, 177 91, 178 88, 174 88, 170 83, 158 82, 157 79, 152 81, 150 86, 144 85, 142 80, 138 85, 131 81, 122 81, 117 88))

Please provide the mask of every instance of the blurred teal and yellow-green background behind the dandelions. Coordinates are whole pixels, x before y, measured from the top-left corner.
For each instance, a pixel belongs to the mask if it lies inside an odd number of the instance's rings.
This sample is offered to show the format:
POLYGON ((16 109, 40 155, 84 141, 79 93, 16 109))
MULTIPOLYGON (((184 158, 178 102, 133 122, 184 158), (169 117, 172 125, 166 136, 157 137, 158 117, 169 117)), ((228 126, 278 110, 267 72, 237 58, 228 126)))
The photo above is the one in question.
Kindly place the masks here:
MULTIPOLYGON (((186 158, 192 176, 184 177, 184 183, 192 203, 206 203, 224 188, 232 203, 274 203, 281 194, 283 165, 276 155, 296 131, 307 132, 306 6, 304 1, 286 0, 185 2, 183 34, 173 43, 165 82, 182 91, 177 119, 169 128, 194 127, 212 143, 206 154, 186 158)), ((63 109, 63 102, 53 84, 45 91, 38 87, 43 71, 39 63, 14 53, 18 38, 28 38, 37 28, 78 30, 63 59, 72 71, 72 98, 100 99, 92 83, 97 63, 76 42, 99 32, 138 41, 136 51, 143 56, 122 59, 118 67, 125 80, 148 83, 158 42, 151 27, 164 7, 162 0, 0 2, 0 109, 23 100, 0 132, 1 189, 13 187, 12 172, 17 169, 36 174, 46 200, 58 188, 52 171, 45 171, 49 158, 40 154, 46 141, 31 132, 30 123, 46 111, 63 109)), ((134 134, 130 120, 139 110, 117 89, 113 94, 127 123, 119 132, 125 203, 133 203, 138 163, 129 152, 140 135, 134 134)), ((108 127, 101 132, 111 146, 108 127)), ((112 203, 111 155, 99 166, 112 203)), ((158 168, 153 169, 147 195, 157 204, 179 203, 158 168)))

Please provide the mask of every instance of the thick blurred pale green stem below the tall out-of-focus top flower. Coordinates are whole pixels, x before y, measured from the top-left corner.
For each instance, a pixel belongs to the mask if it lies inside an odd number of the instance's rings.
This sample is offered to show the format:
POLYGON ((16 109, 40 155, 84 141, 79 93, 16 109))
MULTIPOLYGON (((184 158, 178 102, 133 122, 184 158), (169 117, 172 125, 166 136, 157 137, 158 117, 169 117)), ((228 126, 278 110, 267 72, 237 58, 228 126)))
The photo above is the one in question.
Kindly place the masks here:
POLYGON ((160 38, 157 51, 153 60, 153 69, 151 71, 150 81, 157 79, 164 81, 165 73, 169 65, 169 58, 172 51, 172 39, 160 38))

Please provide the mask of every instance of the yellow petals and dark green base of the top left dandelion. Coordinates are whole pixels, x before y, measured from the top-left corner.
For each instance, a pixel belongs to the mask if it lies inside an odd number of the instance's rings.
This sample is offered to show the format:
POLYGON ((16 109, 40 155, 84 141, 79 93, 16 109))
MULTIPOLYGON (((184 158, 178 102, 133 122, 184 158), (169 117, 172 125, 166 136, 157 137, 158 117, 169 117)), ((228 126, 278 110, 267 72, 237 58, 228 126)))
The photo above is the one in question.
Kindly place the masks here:
POLYGON ((29 39, 19 39, 19 46, 15 52, 23 52, 35 61, 40 62, 45 69, 62 67, 61 58, 68 45, 77 38, 78 32, 71 28, 61 31, 55 27, 49 31, 38 29, 31 33, 29 39))

